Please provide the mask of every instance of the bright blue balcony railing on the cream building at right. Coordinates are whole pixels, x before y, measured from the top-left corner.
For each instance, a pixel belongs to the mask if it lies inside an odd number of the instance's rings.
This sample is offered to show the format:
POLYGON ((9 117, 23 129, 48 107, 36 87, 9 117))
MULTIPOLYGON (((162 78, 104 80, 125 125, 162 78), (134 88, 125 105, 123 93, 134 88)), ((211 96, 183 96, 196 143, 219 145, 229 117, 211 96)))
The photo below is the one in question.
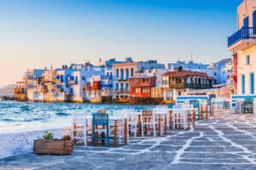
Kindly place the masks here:
POLYGON ((243 39, 256 38, 256 27, 242 27, 235 34, 228 37, 228 47, 243 39))

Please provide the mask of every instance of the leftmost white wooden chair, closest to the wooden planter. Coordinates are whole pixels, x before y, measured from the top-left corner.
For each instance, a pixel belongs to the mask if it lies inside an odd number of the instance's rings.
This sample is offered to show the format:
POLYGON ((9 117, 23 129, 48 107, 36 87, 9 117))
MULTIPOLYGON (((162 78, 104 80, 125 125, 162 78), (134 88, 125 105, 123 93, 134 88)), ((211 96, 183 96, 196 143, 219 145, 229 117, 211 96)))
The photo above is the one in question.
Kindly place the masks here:
POLYGON ((71 139, 83 140, 84 146, 87 145, 87 130, 88 122, 86 114, 73 114, 72 115, 72 128, 71 139))

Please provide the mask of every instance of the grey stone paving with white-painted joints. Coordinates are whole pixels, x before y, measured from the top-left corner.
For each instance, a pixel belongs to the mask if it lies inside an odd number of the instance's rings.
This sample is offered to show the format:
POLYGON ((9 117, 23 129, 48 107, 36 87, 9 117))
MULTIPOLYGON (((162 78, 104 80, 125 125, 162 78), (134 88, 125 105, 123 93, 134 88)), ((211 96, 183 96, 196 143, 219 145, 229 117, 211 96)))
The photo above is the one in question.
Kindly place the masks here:
POLYGON ((76 146, 71 156, 26 154, 0 169, 256 169, 256 116, 224 111, 195 130, 131 139, 118 148, 76 146))

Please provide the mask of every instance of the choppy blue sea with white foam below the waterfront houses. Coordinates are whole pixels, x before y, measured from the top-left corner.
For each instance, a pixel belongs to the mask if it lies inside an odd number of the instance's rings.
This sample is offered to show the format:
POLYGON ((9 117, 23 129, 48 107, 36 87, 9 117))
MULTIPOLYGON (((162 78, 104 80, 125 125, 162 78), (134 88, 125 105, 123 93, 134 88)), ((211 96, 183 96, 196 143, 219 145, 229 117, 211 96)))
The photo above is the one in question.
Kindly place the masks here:
POLYGON ((39 103, 0 100, 0 133, 70 127, 73 113, 149 109, 155 105, 39 103))

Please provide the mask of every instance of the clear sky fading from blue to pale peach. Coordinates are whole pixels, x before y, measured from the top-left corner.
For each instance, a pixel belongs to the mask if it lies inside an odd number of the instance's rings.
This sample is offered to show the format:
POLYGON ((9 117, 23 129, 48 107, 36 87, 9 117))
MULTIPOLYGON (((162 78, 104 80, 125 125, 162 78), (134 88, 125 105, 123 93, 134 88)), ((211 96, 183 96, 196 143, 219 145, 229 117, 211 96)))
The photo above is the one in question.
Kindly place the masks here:
POLYGON ((0 87, 28 68, 99 58, 230 57, 241 0, 0 0, 0 87))

